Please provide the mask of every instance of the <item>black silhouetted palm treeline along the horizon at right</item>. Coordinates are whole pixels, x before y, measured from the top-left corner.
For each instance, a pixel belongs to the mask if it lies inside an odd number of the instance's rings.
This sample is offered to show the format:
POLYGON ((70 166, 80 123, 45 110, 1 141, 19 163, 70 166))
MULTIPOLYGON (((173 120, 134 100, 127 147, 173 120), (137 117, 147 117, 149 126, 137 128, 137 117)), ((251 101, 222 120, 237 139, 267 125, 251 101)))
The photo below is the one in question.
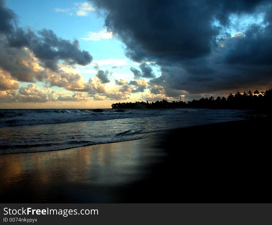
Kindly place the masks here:
POLYGON ((119 102, 112 104, 112 108, 225 108, 225 109, 255 109, 255 110, 269 110, 272 109, 272 89, 265 92, 237 92, 236 94, 230 93, 227 98, 220 97, 214 98, 201 98, 199 100, 172 101, 168 102, 163 99, 162 101, 147 102, 119 102))

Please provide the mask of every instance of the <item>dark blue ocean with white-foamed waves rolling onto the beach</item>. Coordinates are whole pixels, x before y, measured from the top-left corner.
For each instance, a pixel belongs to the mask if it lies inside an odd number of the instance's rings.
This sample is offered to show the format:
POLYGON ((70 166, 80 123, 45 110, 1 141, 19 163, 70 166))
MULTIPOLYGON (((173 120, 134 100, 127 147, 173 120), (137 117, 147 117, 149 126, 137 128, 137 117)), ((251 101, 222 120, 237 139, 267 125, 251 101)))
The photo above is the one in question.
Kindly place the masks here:
POLYGON ((0 109, 0 154, 141 139, 161 130, 241 120, 245 113, 189 108, 0 109))

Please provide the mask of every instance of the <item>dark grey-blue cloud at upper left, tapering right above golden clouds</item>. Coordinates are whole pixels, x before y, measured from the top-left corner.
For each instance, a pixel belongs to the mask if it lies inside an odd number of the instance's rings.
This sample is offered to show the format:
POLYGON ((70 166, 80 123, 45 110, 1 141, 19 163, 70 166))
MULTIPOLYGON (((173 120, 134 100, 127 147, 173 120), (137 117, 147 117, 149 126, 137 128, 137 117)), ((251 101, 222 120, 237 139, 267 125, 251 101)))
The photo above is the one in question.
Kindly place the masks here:
POLYGON ((33 52, 39 63, 54 72, 59 72, 60 60, 67 65, 87 65, 92 56, 80 50, 78 40, 70 42, 56 36, 51 30, 43 29, 37 34, 30 29, 24 30, 16 25, 16 14, 5 7, 0 0, 0 68, 10 72, 20 81, 42 80, 44 74, 36 74, 30 66, 22 63, 31 60, 24 48, 33 52))

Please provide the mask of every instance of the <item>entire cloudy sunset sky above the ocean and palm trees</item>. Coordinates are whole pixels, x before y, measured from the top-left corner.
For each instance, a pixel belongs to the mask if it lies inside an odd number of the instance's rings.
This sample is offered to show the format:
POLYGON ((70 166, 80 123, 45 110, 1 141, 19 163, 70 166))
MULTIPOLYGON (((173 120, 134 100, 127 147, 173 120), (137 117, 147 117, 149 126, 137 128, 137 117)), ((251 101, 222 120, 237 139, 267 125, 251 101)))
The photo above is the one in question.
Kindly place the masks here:
POLYGON ((269 89, 271 5, 0 0, 0 107, 110 108, 269 89))

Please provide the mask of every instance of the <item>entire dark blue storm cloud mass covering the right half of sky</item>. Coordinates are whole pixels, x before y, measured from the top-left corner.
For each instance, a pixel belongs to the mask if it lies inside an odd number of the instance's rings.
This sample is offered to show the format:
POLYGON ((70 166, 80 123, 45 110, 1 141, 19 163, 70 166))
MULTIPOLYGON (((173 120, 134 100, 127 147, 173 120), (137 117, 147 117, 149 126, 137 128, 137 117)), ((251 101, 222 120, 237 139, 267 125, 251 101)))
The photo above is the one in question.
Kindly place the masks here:
MULTIPOLYGON (((105 10, 105 26, 122 40, 130 59, 160 66, 159 78, 147 75, 154 78, 154 94, 161 87, 166 94, 197 94, 272 84, 271 1, 92 2, 105 10), (230 16, 260 13, 264 21, 243 27, 245 36, 227 33, 235 26, 230 16)), ((146 67, 131 68, 134 78, 143 77, 146 67)))

